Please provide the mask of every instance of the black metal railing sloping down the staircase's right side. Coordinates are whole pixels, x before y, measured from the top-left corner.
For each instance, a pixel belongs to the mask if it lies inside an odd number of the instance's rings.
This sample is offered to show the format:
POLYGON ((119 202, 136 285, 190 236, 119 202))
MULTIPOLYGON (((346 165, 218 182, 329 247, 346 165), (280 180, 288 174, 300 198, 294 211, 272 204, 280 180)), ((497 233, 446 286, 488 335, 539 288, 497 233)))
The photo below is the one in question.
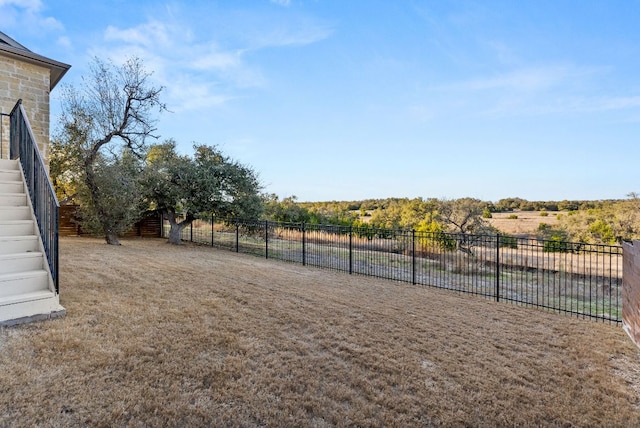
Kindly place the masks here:
POLYGON ((18 100, 11 111, 9 139, 9 156, 10 159, 20 159, 44 252, 51 270, 55 293, 59 294, 58 208, 60 204, 38 150, 22 100, 18 100))

